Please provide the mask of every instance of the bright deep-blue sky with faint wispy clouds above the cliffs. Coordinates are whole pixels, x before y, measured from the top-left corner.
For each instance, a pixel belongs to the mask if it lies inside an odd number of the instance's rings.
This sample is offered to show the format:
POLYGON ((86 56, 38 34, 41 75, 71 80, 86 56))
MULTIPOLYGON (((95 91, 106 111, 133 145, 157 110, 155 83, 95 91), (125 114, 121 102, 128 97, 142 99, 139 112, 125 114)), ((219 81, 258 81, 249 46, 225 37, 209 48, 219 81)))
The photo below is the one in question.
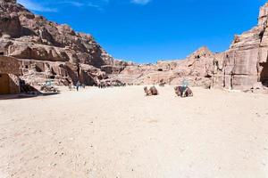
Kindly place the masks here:
POLYGON ((48 20, 92 34, 114 58, 182 59, 206 45, 229 48, 257 23, 265 0, 18 0, 48 20))

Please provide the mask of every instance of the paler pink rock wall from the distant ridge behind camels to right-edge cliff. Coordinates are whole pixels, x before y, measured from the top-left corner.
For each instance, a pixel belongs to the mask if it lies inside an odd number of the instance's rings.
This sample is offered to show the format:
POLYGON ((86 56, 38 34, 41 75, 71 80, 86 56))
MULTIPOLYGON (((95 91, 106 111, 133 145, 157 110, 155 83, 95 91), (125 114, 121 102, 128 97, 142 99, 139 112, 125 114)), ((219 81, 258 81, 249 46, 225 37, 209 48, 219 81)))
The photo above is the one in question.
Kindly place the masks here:
POLYGON ((260 9, 258 24, 235 36, 230 49, 212 53, 206 47, 198 49, 185 60, 159 61, 155 65, 127 66, 118 76, 130 84, 180 85, 188 79, 190 85, 250 90, 255 85, 268 86, 268 3, 260 9))

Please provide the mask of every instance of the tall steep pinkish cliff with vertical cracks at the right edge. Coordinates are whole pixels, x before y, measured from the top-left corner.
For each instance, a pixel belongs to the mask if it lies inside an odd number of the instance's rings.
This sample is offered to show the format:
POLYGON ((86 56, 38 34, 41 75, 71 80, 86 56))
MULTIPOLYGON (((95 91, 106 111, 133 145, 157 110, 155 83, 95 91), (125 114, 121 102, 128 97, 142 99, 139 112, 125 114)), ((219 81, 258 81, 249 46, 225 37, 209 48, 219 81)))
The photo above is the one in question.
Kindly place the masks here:
POLYGON ((223 87, 252 88, 257 83, 267 86, 268 3, 260 9, 258 25, 235 36, 230 49, 219 58, 222 71, 218 77, 223 87))

